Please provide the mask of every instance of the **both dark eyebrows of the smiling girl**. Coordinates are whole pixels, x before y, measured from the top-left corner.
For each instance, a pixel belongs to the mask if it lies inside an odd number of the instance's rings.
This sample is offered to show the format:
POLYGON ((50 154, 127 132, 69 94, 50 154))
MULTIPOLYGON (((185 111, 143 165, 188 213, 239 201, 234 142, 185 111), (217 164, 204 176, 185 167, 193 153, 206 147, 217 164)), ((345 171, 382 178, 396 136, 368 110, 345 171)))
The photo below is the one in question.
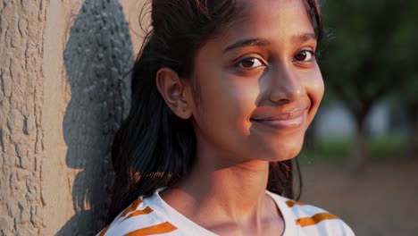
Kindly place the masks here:
MULTIPOLYGON (((309 40, 316 40, 317 37, 314 33, 302 33, 298 34, 292 37, 293 41, 296 41, 297 43, 309 41, 309 40)), ((241 40, 238 40, 238 42, 235 42, 231 44, 230 46, 225 47, 223 49, 223 53, 227 53, 228 51, 243 47, 243 46, 269 46, 270 41, 265 38, 244 38, 241 40)))

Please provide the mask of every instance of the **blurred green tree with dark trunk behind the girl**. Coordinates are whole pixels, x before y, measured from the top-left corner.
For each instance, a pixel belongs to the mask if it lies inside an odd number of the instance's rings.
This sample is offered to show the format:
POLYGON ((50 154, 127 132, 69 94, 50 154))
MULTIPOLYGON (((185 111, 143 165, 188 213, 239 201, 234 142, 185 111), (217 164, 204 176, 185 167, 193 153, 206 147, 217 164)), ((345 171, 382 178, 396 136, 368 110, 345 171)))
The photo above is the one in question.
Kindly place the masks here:
POLYGON ((325 85, 355 118, 351 167, 366 160, 365 120, 372 105, 405 89, 417 61, 416 1, 327 1, 322 13, 327 30, 322 52, 325 85))

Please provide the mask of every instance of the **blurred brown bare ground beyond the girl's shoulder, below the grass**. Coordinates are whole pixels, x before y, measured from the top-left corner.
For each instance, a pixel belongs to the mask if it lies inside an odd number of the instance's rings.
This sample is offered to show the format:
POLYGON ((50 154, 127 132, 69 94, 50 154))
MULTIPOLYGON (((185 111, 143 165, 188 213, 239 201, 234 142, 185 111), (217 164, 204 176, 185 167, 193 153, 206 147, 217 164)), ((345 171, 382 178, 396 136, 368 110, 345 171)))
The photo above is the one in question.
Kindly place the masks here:
POLYGON ((418 159, 367 164, 363 173, 304 164, 302 176, 301 200, 338 215, 356 235, 418 235, 418 159))

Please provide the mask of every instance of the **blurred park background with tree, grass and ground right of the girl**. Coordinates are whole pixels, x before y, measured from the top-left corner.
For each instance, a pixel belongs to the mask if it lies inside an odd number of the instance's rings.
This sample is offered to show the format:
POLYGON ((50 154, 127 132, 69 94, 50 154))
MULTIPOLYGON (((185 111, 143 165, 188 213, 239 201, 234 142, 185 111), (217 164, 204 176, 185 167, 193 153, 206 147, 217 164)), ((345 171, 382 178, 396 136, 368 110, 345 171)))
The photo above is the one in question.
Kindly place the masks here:
POLYGON ((418 2, 324 1, 325 97, 298 156, 302 200, 357 235, 418 235, 418 2))

